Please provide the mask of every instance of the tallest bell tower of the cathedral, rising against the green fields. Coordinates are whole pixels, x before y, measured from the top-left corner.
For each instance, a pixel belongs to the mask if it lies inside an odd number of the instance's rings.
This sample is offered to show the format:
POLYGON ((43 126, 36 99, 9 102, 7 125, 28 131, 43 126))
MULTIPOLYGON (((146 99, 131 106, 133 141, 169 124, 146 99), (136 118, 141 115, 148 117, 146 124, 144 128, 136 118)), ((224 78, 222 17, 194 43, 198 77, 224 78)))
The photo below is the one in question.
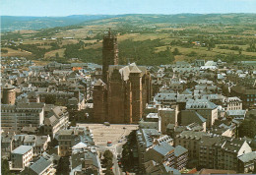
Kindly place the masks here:
POLYGON ((118 65, 117 37, 111 33, 110 28, 108 34, 103 37, 102 81, 105 84, 107 84, 107 71, 109 65, 118 65))

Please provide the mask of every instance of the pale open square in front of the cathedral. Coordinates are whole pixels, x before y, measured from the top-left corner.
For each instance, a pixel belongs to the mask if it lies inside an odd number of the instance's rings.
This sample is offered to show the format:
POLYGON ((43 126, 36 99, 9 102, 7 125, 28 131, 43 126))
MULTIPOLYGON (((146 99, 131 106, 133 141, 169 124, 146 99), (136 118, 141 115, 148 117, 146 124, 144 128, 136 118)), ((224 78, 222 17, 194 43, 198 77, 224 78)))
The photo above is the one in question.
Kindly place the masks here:
POLYGON ((105 126, 103 124, 77 124, 79 127, 89 127, 92 130, 96 142, 96 146, 106 146, 107 142, 113 145, 118 142, 124 142, 125 136, 128 136, 133 130, 138 129, 138 125, 111 124, 105 126))

